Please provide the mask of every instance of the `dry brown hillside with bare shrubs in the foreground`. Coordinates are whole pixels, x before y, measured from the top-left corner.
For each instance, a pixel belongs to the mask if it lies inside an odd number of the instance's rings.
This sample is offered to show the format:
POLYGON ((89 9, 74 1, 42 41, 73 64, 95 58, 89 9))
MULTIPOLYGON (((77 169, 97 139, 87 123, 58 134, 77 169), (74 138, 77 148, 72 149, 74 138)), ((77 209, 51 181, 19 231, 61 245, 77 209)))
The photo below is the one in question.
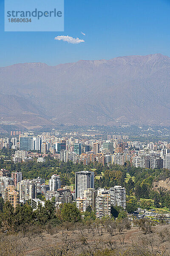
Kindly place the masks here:
POLYGON ((68 224, 45 230, 30 227, 27 233, 0 234, 1 256, 169 256, 169 225, 152 227, 147 233, 139 227, 68 224), (45 232, 44 232, 45 231, 45 232))

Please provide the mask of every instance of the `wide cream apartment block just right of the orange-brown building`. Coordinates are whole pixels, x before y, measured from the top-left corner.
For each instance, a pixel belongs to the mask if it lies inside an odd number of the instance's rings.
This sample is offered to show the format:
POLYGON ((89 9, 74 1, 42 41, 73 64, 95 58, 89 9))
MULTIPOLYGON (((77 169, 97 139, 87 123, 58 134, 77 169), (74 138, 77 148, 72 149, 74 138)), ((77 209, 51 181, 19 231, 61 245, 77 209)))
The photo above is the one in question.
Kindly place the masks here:
POLYGON ((17 191, 19 192, 20 200, 36 198, 36 185, 32 180, 21 180, 17 184, 17 191))

